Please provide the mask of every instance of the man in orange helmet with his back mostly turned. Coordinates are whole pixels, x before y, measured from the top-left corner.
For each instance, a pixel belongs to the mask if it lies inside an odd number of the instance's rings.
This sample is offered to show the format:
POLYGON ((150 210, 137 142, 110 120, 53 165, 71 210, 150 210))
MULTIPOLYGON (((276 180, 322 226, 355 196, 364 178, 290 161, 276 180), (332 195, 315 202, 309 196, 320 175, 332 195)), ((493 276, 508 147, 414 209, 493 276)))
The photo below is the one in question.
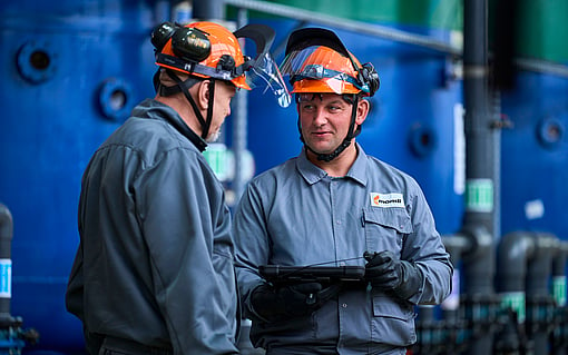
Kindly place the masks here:
POLYGON ((259 24, 165 22, 151 36, 157 95, 94 154, 66 305, 89 354, 238 354, 231 215, 202 152, 253 70, 290 102, 259 24), (252 38, 245 57, 238 38, 252 38))

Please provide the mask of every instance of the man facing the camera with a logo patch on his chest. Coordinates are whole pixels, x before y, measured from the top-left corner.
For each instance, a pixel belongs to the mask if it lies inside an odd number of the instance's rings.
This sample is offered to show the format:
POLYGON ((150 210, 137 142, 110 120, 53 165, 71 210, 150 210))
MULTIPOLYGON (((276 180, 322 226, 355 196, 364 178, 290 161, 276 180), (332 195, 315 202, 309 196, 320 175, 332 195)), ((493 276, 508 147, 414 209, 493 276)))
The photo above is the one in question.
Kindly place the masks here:
POLYGON ((268 355, 405 354, 414 305, 451 290, 453 267, 417 181, 355 142, 379 88, 332 31, 300 29, 281 66, 304 147, 255 177, 234 216, 251 339, 268 355), (258 268, 361 266, 361 282, 266 280, 258 268))

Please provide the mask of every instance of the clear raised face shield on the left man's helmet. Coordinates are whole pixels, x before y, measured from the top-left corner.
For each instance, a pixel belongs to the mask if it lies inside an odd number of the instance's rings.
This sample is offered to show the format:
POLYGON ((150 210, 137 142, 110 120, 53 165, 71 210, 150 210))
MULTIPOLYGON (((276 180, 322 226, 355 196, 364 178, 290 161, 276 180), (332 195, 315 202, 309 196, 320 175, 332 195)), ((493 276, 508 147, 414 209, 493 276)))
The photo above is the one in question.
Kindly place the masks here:
MULTIPOLYGON (((274 30, 264 24, 247 24, 235 32, 239 39, 251 39, 256 46, 256 57, 245 59, 242 70, 246 71, 246 82, 251 88, 259 88, 263 93, 271 91, 282 107, 290 106, 292 99, 274 62, 270 47, 274 41, 274 30)), ((238 68, 237 68, 238 70, 238 68)))

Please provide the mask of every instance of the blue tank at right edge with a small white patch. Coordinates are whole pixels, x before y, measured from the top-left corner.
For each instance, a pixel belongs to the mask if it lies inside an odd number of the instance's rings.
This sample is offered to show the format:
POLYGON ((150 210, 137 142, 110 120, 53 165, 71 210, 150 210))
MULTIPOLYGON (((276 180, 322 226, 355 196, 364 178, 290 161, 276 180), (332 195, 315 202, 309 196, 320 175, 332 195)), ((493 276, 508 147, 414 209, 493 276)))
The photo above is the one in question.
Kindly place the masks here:
POLYGON ((501 229, 567 239, 568 79, 520 72, 502 96, 501 229))

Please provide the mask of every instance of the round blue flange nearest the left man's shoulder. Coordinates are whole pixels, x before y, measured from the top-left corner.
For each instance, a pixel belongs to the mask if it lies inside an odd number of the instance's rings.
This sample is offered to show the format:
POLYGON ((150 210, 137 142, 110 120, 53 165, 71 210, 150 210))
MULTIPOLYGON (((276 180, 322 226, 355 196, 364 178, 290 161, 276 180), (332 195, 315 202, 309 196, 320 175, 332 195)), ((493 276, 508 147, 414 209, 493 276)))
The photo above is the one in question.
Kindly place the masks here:
POLYGON ((131 86, 125 80, 108 78, 100 85, 98 103, 106 118, 121 122, 131 110, 131 86))

